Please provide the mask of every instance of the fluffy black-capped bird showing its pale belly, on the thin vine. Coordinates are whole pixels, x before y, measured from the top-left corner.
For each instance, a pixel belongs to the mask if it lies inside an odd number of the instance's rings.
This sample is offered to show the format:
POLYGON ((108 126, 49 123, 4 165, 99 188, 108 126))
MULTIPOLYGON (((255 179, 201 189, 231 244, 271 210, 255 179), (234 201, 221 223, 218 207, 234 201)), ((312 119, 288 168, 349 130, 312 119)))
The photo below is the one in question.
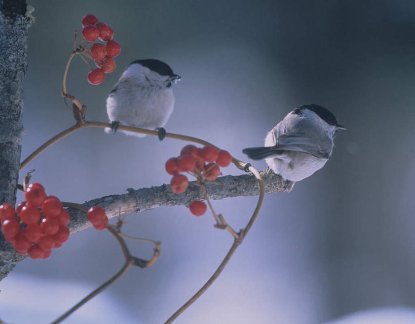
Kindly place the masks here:
MULTIPOLYGON (((111 128, 118 125, 158 130, 160 141, 166 135, 163 126, 174 107, 172 85, 181 77, 173 73, 166 63, 155 60, 136 60, 130 63, 106 99, 106 112, 111 128)), ((123 131, 128 135, 144 137, 145 134, 123 131)))

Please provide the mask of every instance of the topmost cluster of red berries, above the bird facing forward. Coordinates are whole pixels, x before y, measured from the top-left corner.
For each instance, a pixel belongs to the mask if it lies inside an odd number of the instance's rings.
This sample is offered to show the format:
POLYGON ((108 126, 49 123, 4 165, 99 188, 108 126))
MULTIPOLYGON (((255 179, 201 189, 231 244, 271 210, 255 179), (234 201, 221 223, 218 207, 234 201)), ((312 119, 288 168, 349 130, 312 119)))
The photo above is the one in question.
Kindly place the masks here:
POLYGON ((82 18, 82 36, 87 41, 97 39, 105 43, 94 43, 89 49, 92 59, 95 61, 96 69, 88 73, 88 81, 91 84, 99 84, 104 81, 105 73, 111 73, 116 68, 114 57, 120 54, 120 44, 112 40, 114 30, 107 24, 98 21, 94 15, 88 14, 82 18))

